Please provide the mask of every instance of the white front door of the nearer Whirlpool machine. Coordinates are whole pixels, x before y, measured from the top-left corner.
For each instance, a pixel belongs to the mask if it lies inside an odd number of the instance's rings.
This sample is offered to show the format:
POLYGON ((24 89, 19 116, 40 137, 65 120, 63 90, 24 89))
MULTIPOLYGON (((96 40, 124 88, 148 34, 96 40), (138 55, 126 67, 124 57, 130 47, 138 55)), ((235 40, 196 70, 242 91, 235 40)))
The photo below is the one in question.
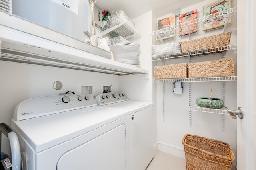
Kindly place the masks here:
POLYGON ((122 124, 63 154, 57 170, 125 170, 125 138, 122 124))

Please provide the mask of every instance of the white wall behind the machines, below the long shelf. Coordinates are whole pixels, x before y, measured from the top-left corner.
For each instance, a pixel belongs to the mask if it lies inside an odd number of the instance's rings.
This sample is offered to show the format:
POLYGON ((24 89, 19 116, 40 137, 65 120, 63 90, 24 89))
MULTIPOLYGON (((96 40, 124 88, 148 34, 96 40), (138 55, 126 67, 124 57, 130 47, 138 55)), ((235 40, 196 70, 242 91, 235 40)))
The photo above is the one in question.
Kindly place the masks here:
MULTIPOLYGON (((0 119, 1 123, 8 125, 16 105, 28 98, 58 95, 67 91, 78 93, 78 83, 94 84, 95 95, 103 92, 102 84, 113 84, 112 91, 119 91, 116 75, 7 61, 1 61, 0 64, 0 119), (53 88, 55 81, 62 82, 61 90, 53 88)), ((4 135, 2 138, 2 151, 10 155, 8 138, 4 135)))

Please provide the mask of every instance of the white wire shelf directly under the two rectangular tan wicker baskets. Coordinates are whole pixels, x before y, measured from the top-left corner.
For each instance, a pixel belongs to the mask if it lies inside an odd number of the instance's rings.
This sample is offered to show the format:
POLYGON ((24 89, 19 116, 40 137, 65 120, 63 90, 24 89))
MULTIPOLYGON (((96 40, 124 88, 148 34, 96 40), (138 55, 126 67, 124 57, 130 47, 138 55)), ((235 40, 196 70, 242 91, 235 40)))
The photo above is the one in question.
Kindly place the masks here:
POLYGON ((236 76, 228 77, 204 77, 204 78, 176 78, 176 79, 153 79, 153 83, 166 82, 222 82, 222 81, 236 81, 236 76))

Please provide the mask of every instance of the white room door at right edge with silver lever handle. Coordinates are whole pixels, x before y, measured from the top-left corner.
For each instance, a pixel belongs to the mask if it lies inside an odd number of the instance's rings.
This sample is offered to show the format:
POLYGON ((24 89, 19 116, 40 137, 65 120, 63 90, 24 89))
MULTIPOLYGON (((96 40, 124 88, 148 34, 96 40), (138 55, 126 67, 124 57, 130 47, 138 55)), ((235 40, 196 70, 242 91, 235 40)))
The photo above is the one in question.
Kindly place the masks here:
POLYGON ((238 0, 237 3, 237 107, 244 111, 243 119, 237 117, 237 169, 255 170, 256 23, 252 15, 256 1, 238 0))

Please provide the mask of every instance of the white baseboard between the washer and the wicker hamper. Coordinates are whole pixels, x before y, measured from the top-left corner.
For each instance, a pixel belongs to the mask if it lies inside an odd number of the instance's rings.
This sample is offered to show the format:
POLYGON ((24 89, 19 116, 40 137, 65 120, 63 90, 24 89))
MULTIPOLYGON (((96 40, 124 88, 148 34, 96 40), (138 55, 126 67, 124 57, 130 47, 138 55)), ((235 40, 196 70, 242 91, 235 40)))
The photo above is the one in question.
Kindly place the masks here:
POLYGON ((174 147, 174 146, 167 145, 165 143, 159 143, 159 142, 158 142, 157 148, 158 148, 158 150, 160 150, 162 152, 172 154, 174 156, 185 159, 185 152, 184 152, 183 148, 178 148, 178 147, 174 147))

